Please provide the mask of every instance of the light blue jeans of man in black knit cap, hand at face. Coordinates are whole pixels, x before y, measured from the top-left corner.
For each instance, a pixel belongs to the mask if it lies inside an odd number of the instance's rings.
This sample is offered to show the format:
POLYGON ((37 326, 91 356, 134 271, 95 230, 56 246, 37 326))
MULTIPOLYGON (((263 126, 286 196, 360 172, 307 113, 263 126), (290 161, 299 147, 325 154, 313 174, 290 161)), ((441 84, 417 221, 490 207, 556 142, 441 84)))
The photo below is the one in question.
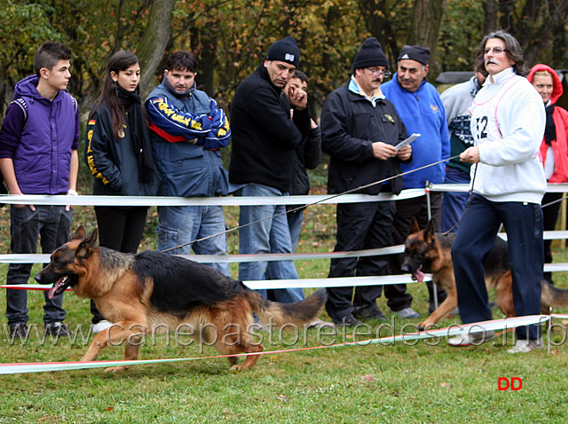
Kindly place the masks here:
MULTIPOLYGON (((235 192, 235 196, 281 196, 282 193, 267 185, 249 184, 235 192)), ((241 206, 239 225, 246 225, 263 218, 264 221, 247 225, 239 230, 239 253, 268 254, 292 253, 288 219, 283 214, 286 207, 282 205, 241 206), (274 216, 274 217, 272 217, 274 216)), ((272 279, 299 279, 293 261, 260 261, 239 264, 239 279, 264 279, 264 271, 272 279)), ((258 290, 266 297, 266 290, 258 290)), ((304 299, 304 290, 300 287, 274 290, 276 301, 283 303, 300 302, 304 299)))

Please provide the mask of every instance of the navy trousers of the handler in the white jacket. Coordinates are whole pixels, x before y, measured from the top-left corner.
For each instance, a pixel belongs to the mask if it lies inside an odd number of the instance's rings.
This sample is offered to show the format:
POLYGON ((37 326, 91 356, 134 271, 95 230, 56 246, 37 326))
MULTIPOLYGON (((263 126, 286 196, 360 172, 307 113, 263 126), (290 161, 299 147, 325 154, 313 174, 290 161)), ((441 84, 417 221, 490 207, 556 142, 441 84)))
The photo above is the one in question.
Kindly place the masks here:
MULTIPOLYGON (((540 205, 491 201, 474 194, 452 247, 458 305, 464 324, 492 318, 483 261, 493 247, 501 223, 507 231, 515 314, 517 317, 540 315, 540 279, 544 263, 540 205)), ((527 336, 538 339, 540 326, 517 327, 519 339, 527 336)))

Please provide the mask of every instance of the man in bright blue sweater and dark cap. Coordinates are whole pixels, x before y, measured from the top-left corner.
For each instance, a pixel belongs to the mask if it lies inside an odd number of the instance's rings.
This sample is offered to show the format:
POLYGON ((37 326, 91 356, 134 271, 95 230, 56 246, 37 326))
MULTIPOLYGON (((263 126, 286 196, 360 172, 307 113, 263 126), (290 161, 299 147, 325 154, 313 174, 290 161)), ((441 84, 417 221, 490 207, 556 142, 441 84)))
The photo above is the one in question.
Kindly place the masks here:
MULTIPOLYGON (((419 45, 405 45, 398 55, 398 72, 392 81, 383 85, 383 93, 397 108, 398 115, 405 122, 408 134, 419 133, 413 146, 413 161, 401 165, 402 172, 422 168, 433 162, 450 157, 450 136, 446 124, 446 112, 438 94, 438 90, 426 82, 429 71, 430 49, 419 45)), ((446 163, 422 169, 402 178, 403 188, 424 188, 426 182, 441 184, 446 177, 446 163)), ((442 217, 442 192, 430 193, 431 216, 439 232, 442 217)), ((397 201, 397 215, 392 224, 392 241, 395 245, 404 243, 410 222, 415 216, 421 228, 428 224, 428 203, 426 195, 413 199, 397 201)), ((389 273, 400 273, 402 255, 391 256, 389 273)), ((408 310, 412 296, 406 293, 405 285, 398 285, 398 300, 390 299, 391 310, 408 310)), ((433 306, 433 292, 429 283, 430 307, 433 306)), ((438 301, 445 298, 446 293, 438 290, 438 301)), ((418 318, 416 312, 401 318, 418 318)))

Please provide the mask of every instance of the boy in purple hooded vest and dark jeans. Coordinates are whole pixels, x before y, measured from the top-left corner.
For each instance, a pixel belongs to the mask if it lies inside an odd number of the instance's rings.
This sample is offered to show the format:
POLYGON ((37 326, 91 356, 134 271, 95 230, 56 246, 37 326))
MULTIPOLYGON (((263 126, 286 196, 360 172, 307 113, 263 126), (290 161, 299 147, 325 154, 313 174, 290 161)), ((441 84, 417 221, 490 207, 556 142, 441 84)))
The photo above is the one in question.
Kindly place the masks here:
MULTIPOLYGON (((36 75, 16 84, 0 130, 0 170, 12 194, 77 194, 79 111, 67 92, 70 59, 63 44, 45 42, 34 58, 36 75)), ((72 216, 69 206, 11 205, 12 253, 36 253, 39 238, 42 252, 51 254, 67 242, 72 216)), ((7 284, 27 284, 31 268, 31 263, 11 263, 7 284)), ((69 335, 62 323, 63 294, 44 295, 45 332, 69 335)), ((28 336, 27 302, 26 290, 6 290, 12 339, 28 336)))

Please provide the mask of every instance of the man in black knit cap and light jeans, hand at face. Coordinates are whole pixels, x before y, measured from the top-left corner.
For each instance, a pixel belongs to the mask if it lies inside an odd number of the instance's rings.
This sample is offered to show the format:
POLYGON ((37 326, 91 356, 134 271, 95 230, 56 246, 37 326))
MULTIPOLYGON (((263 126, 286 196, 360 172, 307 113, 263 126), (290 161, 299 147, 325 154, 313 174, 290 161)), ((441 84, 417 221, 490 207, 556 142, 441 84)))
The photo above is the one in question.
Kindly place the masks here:
MULTIPOLYGON (((311 128, 304 90, 283 92, 300 62, 296 40, 287 36, 273 43, 264 62, 241 82, 231 107, 233 149, 229 181, 240 196, 282 196, 290 190, 295 149, 311 128), (290 114, 290 107, 293 114, 290 114)), ((240 225, 259 223, 239 230, 241 254, 291 253, 288 221, 282 205, 241 206, 240 225)), ((292 261, 239 264, 239 279, 264 279, 268 268, 272 279, 298 279, 292 261)), ((265 290, 261 293, 266 295, 265 290)), ((304 299, 299 287, 274 291, 279 302, 304 299)))

